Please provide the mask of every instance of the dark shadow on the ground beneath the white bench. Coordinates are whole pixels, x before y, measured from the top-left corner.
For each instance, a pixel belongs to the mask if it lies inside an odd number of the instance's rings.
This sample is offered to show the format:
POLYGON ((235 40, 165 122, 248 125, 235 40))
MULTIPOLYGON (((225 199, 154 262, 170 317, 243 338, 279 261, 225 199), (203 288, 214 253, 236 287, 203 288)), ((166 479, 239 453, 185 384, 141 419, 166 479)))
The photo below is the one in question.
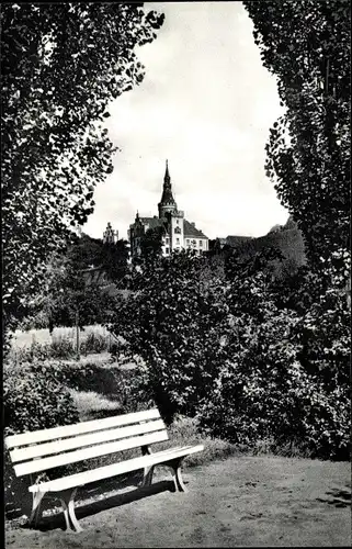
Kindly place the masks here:
MULTIPOLYGON (((122 485, 120 484, 118 488, 122 488, 122 485)), ((101 511, 107 511, 113 507, 127 505, 128 503, 136 502, 145 497, 150 497, 166 491, 174 492, 174 485, 172 481, 159 481, 155 482, 150 486, 144 488, 137 486, 135 488, 135 490, 130 490, 123 494, 114 494, 110 497, 105 497, 103 500, 94 501, 88 504, 77 504, 75 508, 76 516, 78 520, 80 520, 81 518, 96 515, 101 511)), ((22 527, 30 528, 29 524, 25 524, 22 527)), ((65 520, 61 512, 58 512, 52 516, 43 517, 41 519, 41 524, 38 525, 38 529, 42 531, 54 530, 56 528, 65 529, 65 520)))

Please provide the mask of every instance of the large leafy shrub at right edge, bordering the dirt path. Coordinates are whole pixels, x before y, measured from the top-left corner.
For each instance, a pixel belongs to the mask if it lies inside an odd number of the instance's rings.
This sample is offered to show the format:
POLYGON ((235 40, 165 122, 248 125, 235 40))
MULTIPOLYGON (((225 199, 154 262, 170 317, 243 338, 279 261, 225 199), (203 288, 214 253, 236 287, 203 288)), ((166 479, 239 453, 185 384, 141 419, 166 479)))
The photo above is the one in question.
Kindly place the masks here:
POLYGON ((234 354, 200 410, 214 436, 256 448, 348 460, 349 324, 343 296, 328 290, 305 315, 275 311, 234 354))

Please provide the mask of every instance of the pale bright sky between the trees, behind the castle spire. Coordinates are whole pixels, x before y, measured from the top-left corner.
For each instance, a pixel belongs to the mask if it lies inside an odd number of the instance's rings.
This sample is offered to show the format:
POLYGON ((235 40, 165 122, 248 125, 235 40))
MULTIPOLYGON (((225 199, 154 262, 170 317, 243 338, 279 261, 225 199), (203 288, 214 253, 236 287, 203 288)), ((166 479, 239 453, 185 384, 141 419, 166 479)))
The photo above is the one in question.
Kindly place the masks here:
POLYGON ((144 81, 109 107, 121 150, 83 232, 102 238, 111 222, 126 238, 137 210, 157 215, 166 159, 179 210, 209 238, 284 224, 288 212, 264 170, 269 128, 283 109, 242 3, 145 3, 151 9, 164 23, 136 49, 144 81))

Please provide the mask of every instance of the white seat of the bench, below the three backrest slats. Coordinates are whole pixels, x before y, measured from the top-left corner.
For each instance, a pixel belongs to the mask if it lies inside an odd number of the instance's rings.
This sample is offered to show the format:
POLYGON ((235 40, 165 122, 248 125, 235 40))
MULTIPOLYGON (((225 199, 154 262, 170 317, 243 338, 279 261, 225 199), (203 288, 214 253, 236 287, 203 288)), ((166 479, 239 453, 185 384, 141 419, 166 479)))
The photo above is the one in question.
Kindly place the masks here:
POLYGON ((118 474, 136 471, 148 466, 167 463, 172 459, 189 456, 191 453, 202 451, 203 449, 203 445, 184 446, 179 448, 173 447, 156 453, 133 458, 121 463, 113 463, 111 466, 101 467, 91 471, 84 471, 82 473, 64 477, 63 479, 33 484, 32 486, 30 486, 30 492, 59 492, 61 490, 67 490, 73 486, 82 486, 84 484, 89 484, 102 479, 107 479, 111 477, 116 477, 118 474))

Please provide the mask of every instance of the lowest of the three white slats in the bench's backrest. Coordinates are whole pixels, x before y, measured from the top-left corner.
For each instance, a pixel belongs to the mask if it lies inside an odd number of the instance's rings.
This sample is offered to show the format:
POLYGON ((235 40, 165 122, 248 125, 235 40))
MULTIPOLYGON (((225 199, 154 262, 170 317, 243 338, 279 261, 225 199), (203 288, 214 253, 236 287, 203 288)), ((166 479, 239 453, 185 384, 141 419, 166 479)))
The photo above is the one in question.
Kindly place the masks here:
POLYGON ((23 477, 24 474, 53 469, 54 467, 76 463, 78 461, 84 461, 99 456, 107 456, 109 453, 115 453, 117 451, 128 450, 130 448, 137 448, 138 446, 146 446, 154 442, 161 442, 168 439, 169 437, 167 430, 158 430, 147 435, 126 438, 125 440, 106 442, 90 448, 83 448, 82 450, 68 451, 49 458, 34 459, 33 461, 19 463, 14 466, 13 469, 18 477, 23 477))

